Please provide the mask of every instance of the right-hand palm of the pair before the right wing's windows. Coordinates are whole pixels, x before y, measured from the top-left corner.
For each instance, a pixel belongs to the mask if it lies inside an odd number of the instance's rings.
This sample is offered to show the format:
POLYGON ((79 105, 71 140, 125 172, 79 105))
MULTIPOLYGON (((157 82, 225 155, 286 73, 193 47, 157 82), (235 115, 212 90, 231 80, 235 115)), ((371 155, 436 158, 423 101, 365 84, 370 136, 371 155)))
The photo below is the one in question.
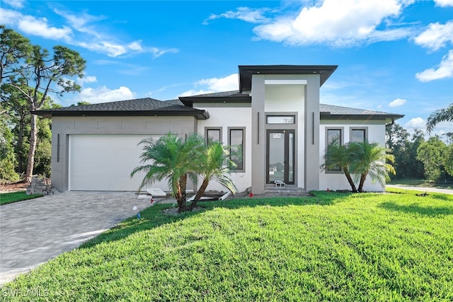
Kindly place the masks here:
POLYGON ((348 145, 350 156, 354 158, 350 163, 350 171, 357 178, 360 178, 358 192, 363 192, 363 185, 367 176, 372 182, 379 182, 384 186, 389 179, 389 173, 395 174, 394 167, 387 161, 394 163, 394 156, 386 153, 384 147, 377 143, 368 141, 352 142, 348 145))

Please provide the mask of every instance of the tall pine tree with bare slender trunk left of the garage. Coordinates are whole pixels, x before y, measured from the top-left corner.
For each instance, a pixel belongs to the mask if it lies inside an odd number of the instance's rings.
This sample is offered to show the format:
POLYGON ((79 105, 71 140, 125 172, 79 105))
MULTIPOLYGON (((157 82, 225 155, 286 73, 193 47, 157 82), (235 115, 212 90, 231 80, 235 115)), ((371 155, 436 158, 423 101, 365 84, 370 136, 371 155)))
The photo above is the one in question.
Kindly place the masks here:
MULTIPOLYGON (((3 33, 6 33, 6 29, 3 30, 3 33)), ((13 30, 8 30, 7 33, 8 36, 16 34, 13 30)), ((9 50, 8 45, 4 45, 9 40, 1 41, 1 51, 9 50)), ((30 182, 33 175, 38 136, 38 117, 33 112, 42 108, 49 93, 62 95, 71 91, 79 91, 80 86, 69 78, 82 77, 86 62, 78 52, 63 46, 53 47, 52 56, 48 50, 42 49, 38 45, 23 47, 23 52, 18 51, 15 54, 18 56, 16 61, 13 64, 6 65, 2 72, 9 75, 6 78, 6 83, 22 95, 28 103, 28 110, 31 112, 30 149, 25 173, 25 180, 30 182)), ((0 57, 2 56, 4 56, 4 53, 0 54, 0 57)), ((5 57, 8 57, 8 55, 5 55, 5 57)), ((11 62, 11 59, 8 62, 11 62)))

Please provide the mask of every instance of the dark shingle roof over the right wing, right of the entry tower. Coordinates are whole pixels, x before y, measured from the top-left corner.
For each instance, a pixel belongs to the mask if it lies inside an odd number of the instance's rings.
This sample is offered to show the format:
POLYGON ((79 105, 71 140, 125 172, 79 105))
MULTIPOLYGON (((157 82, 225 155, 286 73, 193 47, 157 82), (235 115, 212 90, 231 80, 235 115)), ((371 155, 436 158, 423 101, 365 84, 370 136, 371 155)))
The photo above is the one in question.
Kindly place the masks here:
POLYGON ((396 115, 394 113, 363 110, 357 108, 348 108, 336 105, 319 104, 319 115, 321 120, 383 120, 391 119, 397 120, 404 115, 396 115))

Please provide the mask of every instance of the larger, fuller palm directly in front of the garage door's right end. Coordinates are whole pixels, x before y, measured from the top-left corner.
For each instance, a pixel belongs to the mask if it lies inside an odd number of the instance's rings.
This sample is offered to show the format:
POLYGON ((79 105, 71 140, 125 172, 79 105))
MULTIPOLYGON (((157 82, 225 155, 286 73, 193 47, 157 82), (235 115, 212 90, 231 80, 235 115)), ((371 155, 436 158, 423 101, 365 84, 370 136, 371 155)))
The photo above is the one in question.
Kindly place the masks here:
POLYGON ((140 156, 144 165, 134 168, 130 173, 131 177, 139 172, 145 173, 139 190, 144 185, 166 179, 178 202, 178 211, 187 211, 187 179, 197 182, 197 159, 202 158, 204 150, 202 137, 190 134, 186 139, 181 139, 176 134, 168 133, 158 140, 143 139, 139 144, 144 145, 140 156))

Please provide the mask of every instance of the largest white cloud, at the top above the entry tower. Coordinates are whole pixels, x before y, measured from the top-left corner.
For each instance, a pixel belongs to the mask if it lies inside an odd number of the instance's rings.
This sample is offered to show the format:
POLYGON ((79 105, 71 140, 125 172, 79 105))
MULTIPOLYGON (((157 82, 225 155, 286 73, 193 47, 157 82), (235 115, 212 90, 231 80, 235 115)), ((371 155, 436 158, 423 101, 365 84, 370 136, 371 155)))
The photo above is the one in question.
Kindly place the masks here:
POLYGON ((289 45, 327 43, 337 47, 361 42, 396 40, 408 37, 411 30, 386 28, 388 18, 398 17, 412 0, 325 0, 318 6, 306 6, 299 15, 276 18, 259 25, 254 32, 260 39, 289 45))

